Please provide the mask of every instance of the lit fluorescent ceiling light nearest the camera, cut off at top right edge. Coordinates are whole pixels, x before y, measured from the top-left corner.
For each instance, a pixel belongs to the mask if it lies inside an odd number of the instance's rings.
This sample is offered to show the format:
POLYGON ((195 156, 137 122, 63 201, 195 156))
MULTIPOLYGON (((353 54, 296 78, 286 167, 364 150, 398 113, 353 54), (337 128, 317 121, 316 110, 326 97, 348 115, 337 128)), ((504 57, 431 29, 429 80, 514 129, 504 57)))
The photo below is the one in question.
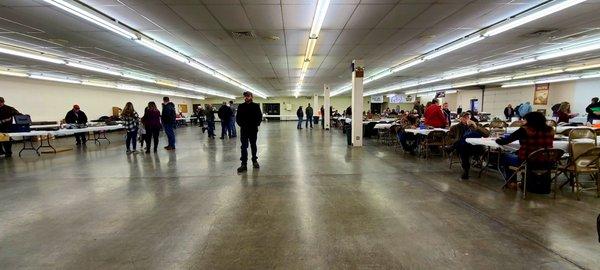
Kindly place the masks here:
POLYGON ((543 7, 536 9, 528 14, 523 16, 518 16, 517 18, 509 18, 505 21, 505 23, 501 23, 496 27, 492 27, 490 30, 484 33, 484 36, 490 37, 502 32, 508 31, 510 29, 519 27, 528 22, 537 20, 544 16, 548 16, 552 13, 561 11, 568 7, 577 5, 579 3, 585 2, 586 0, 564 0, 564 1, 553 1, 549 6, 544 5, 543 7), (556 4, 554 4, 556 3, 556 4))

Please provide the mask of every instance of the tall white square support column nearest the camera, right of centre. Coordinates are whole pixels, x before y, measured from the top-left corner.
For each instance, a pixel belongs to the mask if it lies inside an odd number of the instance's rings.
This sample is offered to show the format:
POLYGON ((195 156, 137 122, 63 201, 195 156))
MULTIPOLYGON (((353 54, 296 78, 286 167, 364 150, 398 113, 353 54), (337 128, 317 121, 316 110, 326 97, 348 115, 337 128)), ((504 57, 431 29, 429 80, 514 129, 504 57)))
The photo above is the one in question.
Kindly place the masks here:
POLYGON ((352 71, 352 146, 362 147, 363 77, 362 60, 354 60, 352 71))

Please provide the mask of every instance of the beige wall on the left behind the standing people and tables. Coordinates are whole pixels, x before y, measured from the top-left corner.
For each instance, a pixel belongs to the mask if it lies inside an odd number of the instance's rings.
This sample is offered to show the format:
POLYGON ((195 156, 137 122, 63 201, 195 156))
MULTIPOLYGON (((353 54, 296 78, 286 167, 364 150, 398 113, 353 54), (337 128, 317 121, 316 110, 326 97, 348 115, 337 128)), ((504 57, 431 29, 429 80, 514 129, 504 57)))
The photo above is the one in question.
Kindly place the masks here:
MULTIPOLYGON (((123 108, 128 101, 140 114, 149 101, 156 102, 159 108, 162 102, 160 95, 8 76, 0 76, 0 89, 7 105, 31 115, 33 121, 59 121, 73 104, 79 104, 89 119, 98 119, 112 115, 113 106, 123 108)), ((171 101, 176 106, 188 104, 188 109, 192 109, 191 99, 171 97, 171 101)))

